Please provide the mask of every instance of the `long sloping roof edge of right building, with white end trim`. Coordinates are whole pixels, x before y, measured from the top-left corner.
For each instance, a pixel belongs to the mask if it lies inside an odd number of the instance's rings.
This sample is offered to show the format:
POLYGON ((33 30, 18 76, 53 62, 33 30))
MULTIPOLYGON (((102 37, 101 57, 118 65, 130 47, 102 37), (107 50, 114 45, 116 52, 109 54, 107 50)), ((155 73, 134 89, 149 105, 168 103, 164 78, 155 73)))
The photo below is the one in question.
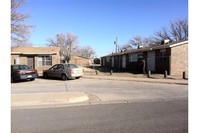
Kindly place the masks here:
POLYGON ((112 53, 103 57, 109 57, 109 56, 117 56, 117 55, 124 55, 124 54, 133 54, 133 53, 140 53, 140 52, 146 52, 146 51, 153 51, 157 49, 165 49, 165 48, 172 48, 172 47, 177 47, 180 45, 187 44, 188 40, 186 41, 179 41, 179 42, 173 42, 173 43, 168 43, 168 44, 163 44, 163 45, 154 45, 154 46, 146 46, 140 49, 132 49, 120 53, 112 53))

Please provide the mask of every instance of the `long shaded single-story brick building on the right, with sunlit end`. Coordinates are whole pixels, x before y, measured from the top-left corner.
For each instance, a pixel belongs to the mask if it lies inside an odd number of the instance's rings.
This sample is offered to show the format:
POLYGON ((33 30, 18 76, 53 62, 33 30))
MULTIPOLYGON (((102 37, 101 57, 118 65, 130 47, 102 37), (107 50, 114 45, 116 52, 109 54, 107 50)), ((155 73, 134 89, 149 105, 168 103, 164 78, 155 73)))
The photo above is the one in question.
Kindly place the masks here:
POLYGON ((140 47, 101 57, 101 65, 135 72, 188 73, 188 40, 140 47), (143 70, 144 69, 144 70, 143 70))

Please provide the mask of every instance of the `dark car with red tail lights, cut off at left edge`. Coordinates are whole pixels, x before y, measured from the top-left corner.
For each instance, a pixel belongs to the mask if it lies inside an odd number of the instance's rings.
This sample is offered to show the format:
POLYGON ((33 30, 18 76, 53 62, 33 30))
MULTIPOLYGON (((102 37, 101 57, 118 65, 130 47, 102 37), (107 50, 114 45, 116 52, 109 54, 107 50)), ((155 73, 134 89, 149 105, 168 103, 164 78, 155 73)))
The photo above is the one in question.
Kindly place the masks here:
POLYGON ((18 80, 34 80, 38 77, 36 69, 31 69, 27 65, 11 65, 11 82, 18 80))

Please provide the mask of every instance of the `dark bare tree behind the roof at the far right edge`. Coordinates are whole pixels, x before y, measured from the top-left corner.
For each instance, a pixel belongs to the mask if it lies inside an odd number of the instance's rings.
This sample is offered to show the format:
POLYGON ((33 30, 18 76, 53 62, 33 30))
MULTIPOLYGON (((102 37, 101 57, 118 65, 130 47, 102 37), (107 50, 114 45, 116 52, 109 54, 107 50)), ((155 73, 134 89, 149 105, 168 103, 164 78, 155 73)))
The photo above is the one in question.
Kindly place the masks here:
POLYGON ((155 33, 156 41, 169 39, 171 41, 182 41, 188 39, 188 21, 179 19, 175 22, 170 21, 169 27, 162 27, 155 33))

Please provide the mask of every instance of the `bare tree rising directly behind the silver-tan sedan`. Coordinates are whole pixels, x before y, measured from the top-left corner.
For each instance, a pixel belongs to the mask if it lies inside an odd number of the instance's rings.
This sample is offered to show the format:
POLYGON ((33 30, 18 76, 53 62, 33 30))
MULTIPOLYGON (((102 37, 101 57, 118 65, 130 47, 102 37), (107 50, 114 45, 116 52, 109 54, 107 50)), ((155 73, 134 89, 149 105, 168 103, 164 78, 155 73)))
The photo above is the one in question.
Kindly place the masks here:
POLYGON ((69 62, 71 56, 78 54, 79 46, 77 45, 77 36, 72 33, 59 33, 56 39, 48 38, 48 46, 60 47, 60 55, 63 60, 69 62))

